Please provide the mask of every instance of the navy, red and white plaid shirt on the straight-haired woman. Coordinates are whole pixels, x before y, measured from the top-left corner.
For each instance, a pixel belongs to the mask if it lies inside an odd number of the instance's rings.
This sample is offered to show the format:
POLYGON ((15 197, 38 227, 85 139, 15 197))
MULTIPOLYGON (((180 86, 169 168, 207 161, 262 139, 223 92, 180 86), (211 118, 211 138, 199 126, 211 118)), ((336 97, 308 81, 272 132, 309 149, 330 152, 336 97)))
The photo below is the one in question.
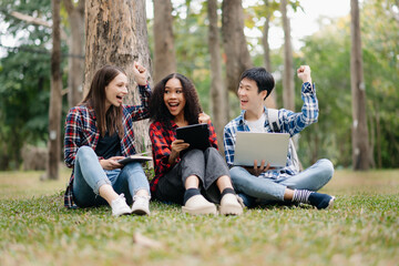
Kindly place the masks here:
MULTIPOLYGON (((129 156, 135 154, 134 149, 134 132, 133 122, 147 119, 149 113, 149 99, 151 95, 151 89, 149 85, 139 86, 141 96, 141 105, 123 105, 122 123, 124 127, 124 134, 121 140, 121 154, 122 156, 129 156)), ((81 146, 90 146, 95 150, 100 137, 100 131, 96 126, 96 119, 94 110, 81 105, 72 108, 65 121, 65 136, 64 136, 64 160, 68 167, 74 166, 78 149, 81 146)), ((100 160, 101 157, 99 157, 100 160)), ((72 175, 64 194, 64 206, 76 207, 73 202, 73 178, 72 175)))

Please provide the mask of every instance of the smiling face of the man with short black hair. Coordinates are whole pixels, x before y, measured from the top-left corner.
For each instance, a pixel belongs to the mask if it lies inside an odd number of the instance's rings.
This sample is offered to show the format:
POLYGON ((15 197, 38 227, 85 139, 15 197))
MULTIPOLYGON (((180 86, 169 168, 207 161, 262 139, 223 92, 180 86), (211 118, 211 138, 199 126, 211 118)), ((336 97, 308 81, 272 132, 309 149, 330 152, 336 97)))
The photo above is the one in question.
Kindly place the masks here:
POLYGON ((238 86, 239 106, 250 114, 258 114, 263 112, 264 99, 267 91, 258 92, 258 86, 255 81, 244 78, 238 86))

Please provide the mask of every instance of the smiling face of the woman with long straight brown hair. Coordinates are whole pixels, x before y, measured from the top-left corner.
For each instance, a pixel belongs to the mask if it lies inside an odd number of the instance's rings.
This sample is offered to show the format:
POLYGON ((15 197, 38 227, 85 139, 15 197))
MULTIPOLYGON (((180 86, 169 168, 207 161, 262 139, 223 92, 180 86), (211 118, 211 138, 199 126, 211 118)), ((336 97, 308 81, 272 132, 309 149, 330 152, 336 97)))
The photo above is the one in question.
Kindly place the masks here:
POLYGON ((127 76, 123 73, 116 75, 108 86, 105 86, 105 110, 111 105, 116 108, 122 105, 123 98, 127 94, 127 76))

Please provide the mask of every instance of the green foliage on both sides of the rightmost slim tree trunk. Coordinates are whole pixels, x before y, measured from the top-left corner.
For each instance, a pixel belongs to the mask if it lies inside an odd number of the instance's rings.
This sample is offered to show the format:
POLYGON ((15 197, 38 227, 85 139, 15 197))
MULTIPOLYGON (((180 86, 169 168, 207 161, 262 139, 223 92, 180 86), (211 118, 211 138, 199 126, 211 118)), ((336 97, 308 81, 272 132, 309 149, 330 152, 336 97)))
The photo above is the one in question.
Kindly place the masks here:
MULTIPOLYGON (((368 1, 361 12, 364 76, 370 144, 378 167, 398 167, 399 155, 399 23, 377 1, 368 1)), ((351 164, 351 91, 349 18, 324 27, 309 37, 296 58, 308 63, 317 85, 320 116, 317 125, 301 134, 305 164, 329 157, 336 165, 351 164)), ((300 84, 297 84, 298 88, 300 84)), ((297 109, 301 105, 297 99, 297 109)))

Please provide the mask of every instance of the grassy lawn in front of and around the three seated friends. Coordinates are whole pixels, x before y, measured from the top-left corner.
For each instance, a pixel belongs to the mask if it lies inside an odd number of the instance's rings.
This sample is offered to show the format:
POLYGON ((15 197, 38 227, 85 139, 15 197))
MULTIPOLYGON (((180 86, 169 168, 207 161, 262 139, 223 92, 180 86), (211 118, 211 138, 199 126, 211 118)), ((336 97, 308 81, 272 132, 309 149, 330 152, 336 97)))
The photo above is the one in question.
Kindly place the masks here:
POLYGON ((270 206, 238 217, 158 203, 150 217, 68 211, 69 171, 51 182, 41 174, 0 173, 0 265, 399 264, 398 170, 337 171, 323 190, 337 196, 329 211, 270 206))

